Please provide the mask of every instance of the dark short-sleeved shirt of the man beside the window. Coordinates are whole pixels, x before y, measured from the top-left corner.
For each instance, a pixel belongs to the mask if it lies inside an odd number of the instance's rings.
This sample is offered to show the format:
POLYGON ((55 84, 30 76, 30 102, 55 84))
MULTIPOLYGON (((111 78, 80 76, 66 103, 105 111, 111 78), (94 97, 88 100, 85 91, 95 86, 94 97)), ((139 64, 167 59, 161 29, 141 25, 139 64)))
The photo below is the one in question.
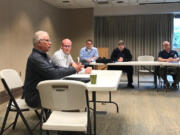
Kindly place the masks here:
POLYGON ((159 52, 158 57, 163 58, 163 59, 168 59, 168 58, 177 58, 179 56, 175 50, 170 50, 169 53, 166 50, 162 50, 159 52))

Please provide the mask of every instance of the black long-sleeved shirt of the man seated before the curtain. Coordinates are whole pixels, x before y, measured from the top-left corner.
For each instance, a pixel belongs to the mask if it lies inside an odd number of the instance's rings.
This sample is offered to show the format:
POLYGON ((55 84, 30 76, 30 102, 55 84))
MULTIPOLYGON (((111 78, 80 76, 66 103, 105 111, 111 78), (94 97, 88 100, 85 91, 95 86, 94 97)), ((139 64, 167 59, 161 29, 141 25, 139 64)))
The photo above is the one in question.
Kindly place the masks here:
POLYGON ((124 48, 122 51, 120 51, 119 48, 116 48, 113 50, 113 52, 111 54, 111 59, 114 62, 117 62, 120 57, 123 58, 123 61, 131 61, 132 60, 131 52, 127 48, 124 48))

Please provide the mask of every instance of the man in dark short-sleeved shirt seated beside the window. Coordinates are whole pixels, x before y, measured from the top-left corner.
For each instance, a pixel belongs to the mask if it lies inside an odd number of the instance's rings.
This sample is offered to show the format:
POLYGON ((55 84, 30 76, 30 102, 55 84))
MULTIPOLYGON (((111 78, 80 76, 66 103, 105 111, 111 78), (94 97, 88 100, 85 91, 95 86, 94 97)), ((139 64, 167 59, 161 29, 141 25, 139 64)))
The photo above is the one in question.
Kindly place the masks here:
MULTIPOLYGON (((179 61, 178 53, 171 50, 170 43, 168 41, 163 42, 163 50, 159 52, 158 61, 161 62, 177 62, 179 61)), ((172 75, 174 82, 172 88, 177 89, 177 84, 180 79, 179 67, 158 67, 158 75, 164 80, 164 88, 170 88, 170 84, 167 80, 167 75, 172 75)))

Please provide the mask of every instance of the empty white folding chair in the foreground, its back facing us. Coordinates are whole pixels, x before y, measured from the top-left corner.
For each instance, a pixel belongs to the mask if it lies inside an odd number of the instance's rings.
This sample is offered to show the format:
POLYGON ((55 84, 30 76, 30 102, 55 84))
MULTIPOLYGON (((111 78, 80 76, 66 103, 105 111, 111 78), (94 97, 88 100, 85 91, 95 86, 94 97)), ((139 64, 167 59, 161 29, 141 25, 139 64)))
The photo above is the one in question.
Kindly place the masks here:
POLYGON ((91 134, 89 99, 85 83, 47 80, 40 82, 37 89, 42 106, 42 130, 80 131, 91 134), (44 109, 52 112, 46 120, 43 119, 44 109), (69 111, 77 109, 81 111, 69 111))

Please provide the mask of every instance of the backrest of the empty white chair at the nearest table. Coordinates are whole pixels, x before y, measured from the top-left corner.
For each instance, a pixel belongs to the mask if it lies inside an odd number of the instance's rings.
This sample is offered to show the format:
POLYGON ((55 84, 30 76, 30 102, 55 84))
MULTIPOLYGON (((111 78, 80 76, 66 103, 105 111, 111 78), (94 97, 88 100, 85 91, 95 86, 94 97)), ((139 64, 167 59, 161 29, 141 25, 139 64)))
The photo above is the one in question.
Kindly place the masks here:
POLYGON ((86 85, 72 80, 47 80, 37 85, 41 106, 51 110, 84 109, 86 85))

